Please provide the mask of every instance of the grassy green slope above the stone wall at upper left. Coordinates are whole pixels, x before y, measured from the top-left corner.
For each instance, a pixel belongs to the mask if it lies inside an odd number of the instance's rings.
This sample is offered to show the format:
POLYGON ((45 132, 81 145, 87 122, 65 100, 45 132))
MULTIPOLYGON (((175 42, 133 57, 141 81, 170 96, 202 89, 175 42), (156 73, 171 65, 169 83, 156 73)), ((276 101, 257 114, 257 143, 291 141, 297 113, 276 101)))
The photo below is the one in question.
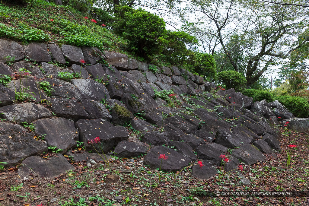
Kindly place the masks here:
POLYGON ((85 19, 70 6, 57 6, 42 0, 28 6, 3 1, 0 14, 0 36, 23 44, 53 41, 60 45, 94 46, 102 51, 127 53, 126 40, 91 22, 90 16, 85 19))

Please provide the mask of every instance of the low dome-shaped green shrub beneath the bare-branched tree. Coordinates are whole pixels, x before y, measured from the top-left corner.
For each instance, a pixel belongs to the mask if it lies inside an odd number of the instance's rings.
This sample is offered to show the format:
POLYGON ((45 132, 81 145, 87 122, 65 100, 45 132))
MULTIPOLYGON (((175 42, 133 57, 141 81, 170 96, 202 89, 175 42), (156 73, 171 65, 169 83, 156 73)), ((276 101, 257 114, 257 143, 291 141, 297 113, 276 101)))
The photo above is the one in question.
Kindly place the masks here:
POLYGON ((219 72, 217 74, 217 80, 223 82, 226 89, 234 88, 235 90, 239 90, 244 87, 247 82, 243 74, 234 70, 219 72))

